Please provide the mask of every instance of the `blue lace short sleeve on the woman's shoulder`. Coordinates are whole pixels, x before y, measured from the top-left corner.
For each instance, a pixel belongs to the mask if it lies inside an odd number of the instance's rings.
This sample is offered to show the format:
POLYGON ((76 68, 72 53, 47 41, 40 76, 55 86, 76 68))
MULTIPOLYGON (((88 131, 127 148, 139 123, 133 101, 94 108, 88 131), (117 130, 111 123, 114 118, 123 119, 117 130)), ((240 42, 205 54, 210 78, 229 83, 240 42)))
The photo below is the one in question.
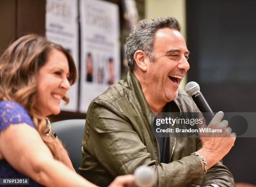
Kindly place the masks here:
POLYGON ((26 109, 15 101, 0 102, 0 131, 10 124, 26 123, 35 128, 26 109))

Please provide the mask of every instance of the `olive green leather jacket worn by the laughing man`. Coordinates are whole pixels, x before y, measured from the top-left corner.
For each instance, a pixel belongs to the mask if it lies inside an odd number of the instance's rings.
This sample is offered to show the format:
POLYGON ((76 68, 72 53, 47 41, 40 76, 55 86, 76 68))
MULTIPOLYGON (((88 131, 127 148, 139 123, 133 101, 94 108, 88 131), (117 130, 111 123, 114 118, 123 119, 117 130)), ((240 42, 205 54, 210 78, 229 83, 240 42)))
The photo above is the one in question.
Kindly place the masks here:
MULTIPOLYGON (((183 91, 168 105, 170 112, 198 111, 183 91)), ((210 183, 235 186, 222 162, 203 174, 200 159, 191 155, 201 148, 199 138, 170 138, 170 163, 159 163, 158 142, 151 134, 152 116, 140 83, 129 71, 125 80, 110 86, 88 108, 80 174, 92 183, 107 186, 116 176, 132 174, 138 166, 148 165, 154 169, 159 187, 210 183)))

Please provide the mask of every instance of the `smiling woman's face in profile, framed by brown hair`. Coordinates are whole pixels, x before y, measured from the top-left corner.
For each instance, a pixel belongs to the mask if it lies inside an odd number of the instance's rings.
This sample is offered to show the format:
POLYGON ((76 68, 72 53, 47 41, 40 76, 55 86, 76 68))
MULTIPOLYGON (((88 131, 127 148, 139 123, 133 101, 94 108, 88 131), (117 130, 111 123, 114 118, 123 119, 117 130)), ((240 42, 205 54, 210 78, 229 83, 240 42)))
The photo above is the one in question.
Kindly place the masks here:
POLYGON ((60 113, 60 101, 70 88, 69 64, 64 53, 54 49, 39 69, 36 108, 42 116, 60 113))

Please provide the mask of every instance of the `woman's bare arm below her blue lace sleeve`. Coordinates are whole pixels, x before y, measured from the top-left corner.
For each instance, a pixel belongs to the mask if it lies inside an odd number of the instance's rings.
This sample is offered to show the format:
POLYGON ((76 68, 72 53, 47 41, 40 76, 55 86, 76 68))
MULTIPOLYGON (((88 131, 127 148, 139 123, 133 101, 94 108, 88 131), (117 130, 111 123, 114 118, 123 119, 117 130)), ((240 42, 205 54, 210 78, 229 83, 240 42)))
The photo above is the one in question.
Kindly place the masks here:
POLYGON ((0 132, 0 153, 19 172, 45 186, 95 186, 54 159, 38 131, 27 124, 14 124, 0 132))

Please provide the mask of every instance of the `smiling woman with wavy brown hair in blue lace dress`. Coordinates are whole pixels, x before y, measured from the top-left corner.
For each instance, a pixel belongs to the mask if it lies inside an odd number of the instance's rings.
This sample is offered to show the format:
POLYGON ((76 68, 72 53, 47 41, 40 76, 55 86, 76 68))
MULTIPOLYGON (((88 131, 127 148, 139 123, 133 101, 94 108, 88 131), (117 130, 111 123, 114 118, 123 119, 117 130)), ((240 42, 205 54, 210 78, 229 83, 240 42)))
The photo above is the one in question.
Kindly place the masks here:
MULTIPOLYGON (((0 58, 0 178, 27 178, 30 186, 95 186, 75 173, 46 116, 77 79, 74 61, 61 46, 38 35, 16 40, 0 58)), ((110 186, 123 186, 132 175, 110 186)))

